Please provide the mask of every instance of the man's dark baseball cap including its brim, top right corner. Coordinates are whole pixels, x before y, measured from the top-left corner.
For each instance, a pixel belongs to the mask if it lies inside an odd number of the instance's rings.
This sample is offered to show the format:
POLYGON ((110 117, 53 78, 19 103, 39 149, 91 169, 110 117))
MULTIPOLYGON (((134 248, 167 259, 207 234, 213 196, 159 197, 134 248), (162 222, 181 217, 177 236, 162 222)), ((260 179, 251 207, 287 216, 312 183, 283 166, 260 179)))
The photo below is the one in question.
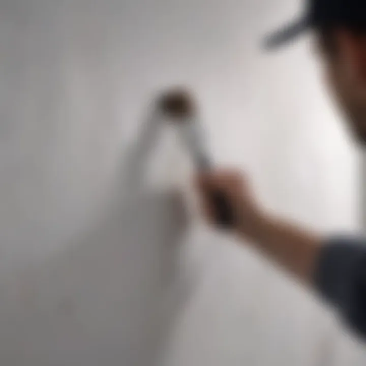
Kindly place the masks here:
POLYGON ((308 0, 303 15, 269 35, 267 49, 278 48, 309 29, 345 26, 366 29, 366 0, 308 0))

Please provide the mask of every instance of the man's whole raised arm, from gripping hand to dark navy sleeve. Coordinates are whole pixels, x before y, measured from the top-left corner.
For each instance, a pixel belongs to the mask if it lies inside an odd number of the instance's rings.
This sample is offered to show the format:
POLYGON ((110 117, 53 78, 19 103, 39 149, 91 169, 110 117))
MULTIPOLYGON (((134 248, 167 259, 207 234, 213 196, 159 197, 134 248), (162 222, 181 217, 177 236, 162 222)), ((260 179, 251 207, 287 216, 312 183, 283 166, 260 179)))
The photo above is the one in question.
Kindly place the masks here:
POLYGON ((366 239, 324 238, 300 226, 263 214, 245 179, 235 172, 198 180, 207 218, 215 221, 207 192, 224 192, 231 202, 235 232, 314 288, 344 320, 366 337, 366 239), (248 240, 249 239, 249 240, 248 240))

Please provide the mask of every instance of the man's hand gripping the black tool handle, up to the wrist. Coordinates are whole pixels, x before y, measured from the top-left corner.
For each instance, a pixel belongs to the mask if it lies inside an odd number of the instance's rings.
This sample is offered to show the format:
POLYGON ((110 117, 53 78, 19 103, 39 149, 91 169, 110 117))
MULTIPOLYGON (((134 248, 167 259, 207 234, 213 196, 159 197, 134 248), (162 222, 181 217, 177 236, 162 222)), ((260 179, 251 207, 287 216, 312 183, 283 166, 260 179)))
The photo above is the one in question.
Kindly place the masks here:
POLYGON ((210 224, 215 225, 216 208, 210 199, 210 192, 222 192, 233 210, 233 230, 251 236, 261 222, 261 210, 245 174, 237 170, 211 171, 198 174, 196 187, 201 199, 203 214, 210 224))

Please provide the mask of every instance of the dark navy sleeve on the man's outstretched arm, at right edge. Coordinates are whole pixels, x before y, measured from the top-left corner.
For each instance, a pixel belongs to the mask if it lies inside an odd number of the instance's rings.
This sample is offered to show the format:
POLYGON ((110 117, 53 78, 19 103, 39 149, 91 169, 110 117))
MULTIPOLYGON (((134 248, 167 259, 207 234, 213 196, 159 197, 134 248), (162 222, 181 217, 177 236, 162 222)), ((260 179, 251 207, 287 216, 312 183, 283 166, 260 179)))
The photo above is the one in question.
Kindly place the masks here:
POLYGON ((329 240, 320 253, 315 285, 347 325, 366 338, 366 239, 329 240))

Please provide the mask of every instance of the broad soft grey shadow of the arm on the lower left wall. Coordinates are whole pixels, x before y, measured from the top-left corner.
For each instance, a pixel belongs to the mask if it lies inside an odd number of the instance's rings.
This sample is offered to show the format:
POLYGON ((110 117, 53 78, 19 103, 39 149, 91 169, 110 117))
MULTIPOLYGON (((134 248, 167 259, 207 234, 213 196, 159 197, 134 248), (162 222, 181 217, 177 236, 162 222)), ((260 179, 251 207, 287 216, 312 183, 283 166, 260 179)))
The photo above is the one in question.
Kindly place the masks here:
POLYGON ((174 194, 116 201, 74 246, 3 284, 1 363, 151 364, 185 296, 186 224, 174 194))

